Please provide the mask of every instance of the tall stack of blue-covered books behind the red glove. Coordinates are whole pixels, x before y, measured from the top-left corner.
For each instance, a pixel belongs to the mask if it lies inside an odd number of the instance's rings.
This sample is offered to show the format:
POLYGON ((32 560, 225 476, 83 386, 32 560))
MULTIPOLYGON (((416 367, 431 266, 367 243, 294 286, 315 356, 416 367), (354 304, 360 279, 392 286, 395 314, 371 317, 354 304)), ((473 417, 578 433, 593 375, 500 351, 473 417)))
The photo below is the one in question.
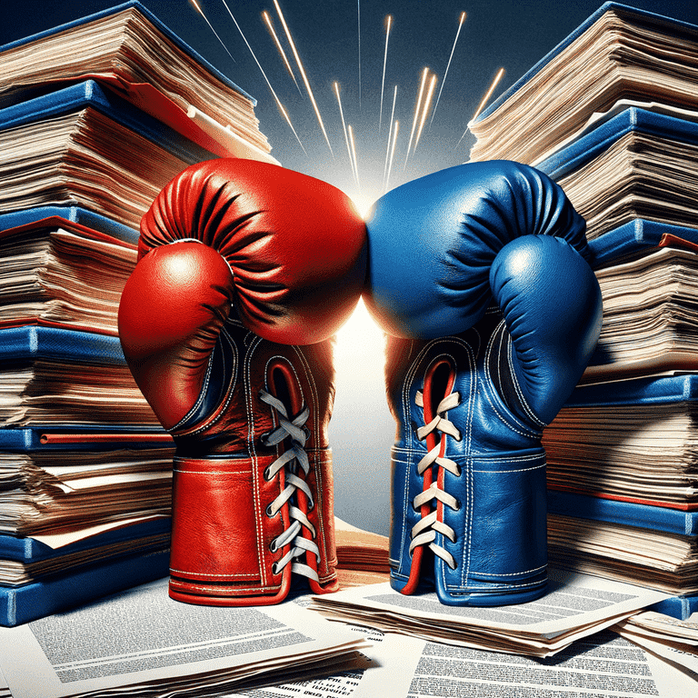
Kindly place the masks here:
POLYGON ((0 624, 167 575, 174 444, 119 299, 167 182, 269 150, 254 99, 136 2, 0 47, 0 624))

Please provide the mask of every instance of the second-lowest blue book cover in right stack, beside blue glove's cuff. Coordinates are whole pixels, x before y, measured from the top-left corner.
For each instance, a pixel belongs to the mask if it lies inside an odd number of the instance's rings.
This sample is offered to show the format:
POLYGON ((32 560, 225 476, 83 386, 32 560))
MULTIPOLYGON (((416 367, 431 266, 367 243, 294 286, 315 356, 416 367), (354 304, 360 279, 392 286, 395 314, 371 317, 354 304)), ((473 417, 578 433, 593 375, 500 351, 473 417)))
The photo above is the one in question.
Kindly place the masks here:
POLYGON ((548 490, 548 513, 664 533, 698 536, 698 512, 548 490))

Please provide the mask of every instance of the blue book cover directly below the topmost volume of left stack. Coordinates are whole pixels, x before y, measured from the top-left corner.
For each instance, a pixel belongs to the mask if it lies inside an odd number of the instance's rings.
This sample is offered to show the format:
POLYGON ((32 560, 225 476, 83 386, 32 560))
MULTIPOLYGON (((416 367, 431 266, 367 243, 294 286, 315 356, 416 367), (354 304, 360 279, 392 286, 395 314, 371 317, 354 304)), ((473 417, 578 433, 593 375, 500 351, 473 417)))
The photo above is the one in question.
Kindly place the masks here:
POLYGON ((0 130, 72 114, 87 108, 95 109, 116 123, 144 136, 151 143, 159 145, 189 165, 214 157, 210 151, 192 143, 153 116, 145 114, 108 89, 104 89, 94 80, 86 80, 0 109, 0 130))

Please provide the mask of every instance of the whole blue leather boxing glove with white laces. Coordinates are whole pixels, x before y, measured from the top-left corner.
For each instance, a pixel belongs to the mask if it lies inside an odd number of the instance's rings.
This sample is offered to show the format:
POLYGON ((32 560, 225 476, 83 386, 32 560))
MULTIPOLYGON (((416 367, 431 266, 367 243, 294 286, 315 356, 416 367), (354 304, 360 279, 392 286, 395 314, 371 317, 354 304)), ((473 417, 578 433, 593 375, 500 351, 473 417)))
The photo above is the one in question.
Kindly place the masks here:
POLYGON ((495 605, 546 586, 543 427, 601 329, 585 224, 526 165, 454 167, 384 195, 364 299, 388 334, 391 583, 495 605), (424 585, 424 584, 423 584, 424 585))

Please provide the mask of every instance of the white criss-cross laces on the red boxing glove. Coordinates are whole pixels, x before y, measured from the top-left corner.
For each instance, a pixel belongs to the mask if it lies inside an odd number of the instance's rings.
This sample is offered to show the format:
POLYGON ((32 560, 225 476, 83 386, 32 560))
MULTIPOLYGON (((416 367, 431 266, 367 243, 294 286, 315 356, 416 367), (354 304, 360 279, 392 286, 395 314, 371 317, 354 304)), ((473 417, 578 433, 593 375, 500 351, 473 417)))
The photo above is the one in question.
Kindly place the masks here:
POLYGON ((315 570, 310 565, 298 561, 298 558, 305 553, 313 553, 316 561, 319 563, 320 549, 314 543, 314 540, 304 537, 303 531, 305 529, 310 532, 311 537, 314 539, 316 535, 315 528, 308 520, 306 514, 295 505, 296 492, 301 490, 307 498, 308 511, 311 511, 314 507, 313 493, 310 491, 308 484, 298 474, 299 467, 305 475, 310 471, 308 454, 304 449, 305 442, 310 436, 310 432, 305 427, 305 422, 307 422, 310 416, 310 409, 305 406, 292 420, 288 416, 284 403, 274 397, 274 395, 261 390, 259 398, 263 403, 268 404, 276 411, 279 422, 274 431, 264 434, 264 445, 274 446, 280 444, 284 439, 290 439, 290 447, 286 447, 284 453, 273 464, 264 469, 264 480, 267 482, 273 480, 284 469, 285 483, 284 492, 279 494, 274 499, 274 502, 266 507, 266 515, 274 516, 284 505, 288 504, 288 516, 292 521, 284 533, 274 538, 270 544, 270 548, 274 548, 272 550, 273 553, 281 550, 285 545, 291 546, 284 557, 273 564, 272 572, 280 574, 284 571, 286 565, 291 563, 292 572, 303 574, 315 582, 319 582, 319 577, 315 570))

